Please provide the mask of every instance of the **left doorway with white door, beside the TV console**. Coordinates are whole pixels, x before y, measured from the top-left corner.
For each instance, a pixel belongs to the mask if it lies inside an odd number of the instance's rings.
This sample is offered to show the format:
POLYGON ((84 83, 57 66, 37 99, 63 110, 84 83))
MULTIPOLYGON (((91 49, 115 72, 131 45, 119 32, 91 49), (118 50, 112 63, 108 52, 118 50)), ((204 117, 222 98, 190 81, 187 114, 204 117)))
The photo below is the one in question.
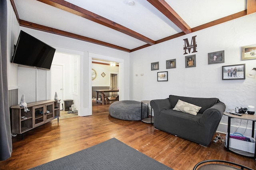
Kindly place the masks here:
MULTIPOLYGON (((56 52, 51 66, 51 98, 54 99, 55 92, 60 100, 60 110, 65 110, 64 100, 73 100, 73 104, 78 107, 80 105, 79 101, 79 80, 80 80, 80 67, 79 67, 79 55, 74 55, 70 53, 56 52)), ((71 107, 68 106, 68 107, 71 107)), ((68 111, 61 111, 62 118, 69 118, 68 111)))

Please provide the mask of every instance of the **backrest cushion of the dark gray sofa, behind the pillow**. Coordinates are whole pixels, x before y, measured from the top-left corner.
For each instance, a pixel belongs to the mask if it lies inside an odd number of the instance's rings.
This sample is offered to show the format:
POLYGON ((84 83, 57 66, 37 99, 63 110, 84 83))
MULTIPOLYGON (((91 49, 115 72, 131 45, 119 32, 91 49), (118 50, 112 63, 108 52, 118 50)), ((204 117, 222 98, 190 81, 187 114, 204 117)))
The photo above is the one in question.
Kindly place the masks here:
POLYGON ((183 96, 169 95, 171 108, 175 107, 179 99, 187 103, 191 103, 193 105, 202 107, 202 109, 200 109, 198 113, 204 113, 206 109, 212 107, 215 103, 220 102, 219 99, 217 98, 196 98, 196 97, 183 97, 183 96))

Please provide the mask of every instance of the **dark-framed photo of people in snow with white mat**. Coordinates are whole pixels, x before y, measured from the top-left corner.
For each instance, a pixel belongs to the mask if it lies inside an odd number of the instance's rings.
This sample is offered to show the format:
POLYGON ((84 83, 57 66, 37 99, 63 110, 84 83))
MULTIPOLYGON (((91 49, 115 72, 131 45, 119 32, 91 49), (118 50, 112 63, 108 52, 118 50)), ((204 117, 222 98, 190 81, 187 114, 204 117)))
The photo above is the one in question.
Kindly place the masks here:
POLYGON ((222 66, 222 80, 245 79, 245 64, 222 66))

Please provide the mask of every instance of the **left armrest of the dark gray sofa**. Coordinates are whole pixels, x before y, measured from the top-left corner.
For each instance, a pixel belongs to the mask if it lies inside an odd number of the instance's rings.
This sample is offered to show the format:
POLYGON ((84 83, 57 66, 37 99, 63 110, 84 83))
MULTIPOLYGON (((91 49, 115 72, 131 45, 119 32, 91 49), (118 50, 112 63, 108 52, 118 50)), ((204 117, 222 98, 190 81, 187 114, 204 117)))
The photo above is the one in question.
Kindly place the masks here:
POLYGON ((160 111, 171 109, 169 98, 152 100, 150 106, 154 110, 154 115, 159 114, 160 111))

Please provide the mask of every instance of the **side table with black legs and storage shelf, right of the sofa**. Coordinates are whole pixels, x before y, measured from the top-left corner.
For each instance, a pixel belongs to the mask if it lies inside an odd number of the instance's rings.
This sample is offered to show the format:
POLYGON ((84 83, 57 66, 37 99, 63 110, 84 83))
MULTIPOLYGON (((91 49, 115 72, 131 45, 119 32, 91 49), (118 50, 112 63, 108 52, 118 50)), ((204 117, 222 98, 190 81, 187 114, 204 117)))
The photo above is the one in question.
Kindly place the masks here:
MULTIPOLYGON (((254 127, 255 127, 255 121, 256 121, 256 115, 248 115, 248 114, 242 114, 242 116, 240 115, 234 115, 228 112, 224 112, 224 115, 228 116, 228 134, 227 134, 227 142, 225 144, 227 151, 231 150, 232 152, 235 152, 237 154, 241 154, 244 156, 250 156, 250 157, 254 157, 254 159, 256 160, 256 142, 252 143, 255 144, 254 147, 254 154, 250 153, 250 152, 246 152, 243 150, 238 150, 235 148, 230 148, 230 124, 231 124, 231 118, 236 118, 236 119, 243 119, 243 120, 249 120, 252 121, 252 138, 254 138, 254 127)), ((246 141, 243 141, 246 142, 246 141)))

